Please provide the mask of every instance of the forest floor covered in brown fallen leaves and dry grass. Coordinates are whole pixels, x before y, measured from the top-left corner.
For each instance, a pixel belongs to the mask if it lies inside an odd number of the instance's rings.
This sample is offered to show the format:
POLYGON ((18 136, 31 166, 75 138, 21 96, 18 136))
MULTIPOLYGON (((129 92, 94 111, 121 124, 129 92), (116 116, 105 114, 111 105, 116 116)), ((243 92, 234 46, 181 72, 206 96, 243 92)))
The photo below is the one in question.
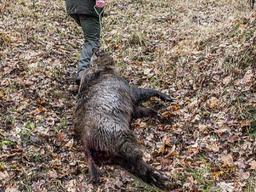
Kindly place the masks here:
MULTIPOLYGON (((256 192, 256 11, 249 0, 107 0, 106 49, 169 121, 137 119, 177 192, 256 192)), ((119 166, 94 183, 73 132, 81 28, 63 0, 0 0, 0 192, 160 192, 119 166)))

